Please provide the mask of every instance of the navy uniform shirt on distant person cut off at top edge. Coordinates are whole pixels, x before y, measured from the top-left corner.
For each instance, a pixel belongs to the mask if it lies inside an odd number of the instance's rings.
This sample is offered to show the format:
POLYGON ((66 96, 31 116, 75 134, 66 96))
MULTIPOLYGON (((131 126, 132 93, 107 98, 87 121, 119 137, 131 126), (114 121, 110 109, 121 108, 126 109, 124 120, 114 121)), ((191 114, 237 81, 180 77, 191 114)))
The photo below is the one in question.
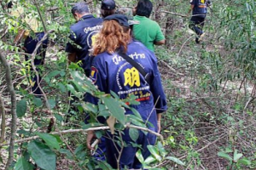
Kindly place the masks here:
POLYGON ((195 5, 193 8, 193 15, 196 17, 205 18, 207 15, 207 0, 190 0, 191 5, 195 5), (198 14, 198 15, 197 15, 198 14))

